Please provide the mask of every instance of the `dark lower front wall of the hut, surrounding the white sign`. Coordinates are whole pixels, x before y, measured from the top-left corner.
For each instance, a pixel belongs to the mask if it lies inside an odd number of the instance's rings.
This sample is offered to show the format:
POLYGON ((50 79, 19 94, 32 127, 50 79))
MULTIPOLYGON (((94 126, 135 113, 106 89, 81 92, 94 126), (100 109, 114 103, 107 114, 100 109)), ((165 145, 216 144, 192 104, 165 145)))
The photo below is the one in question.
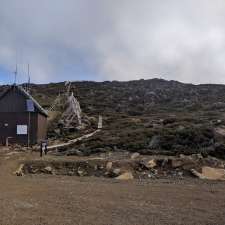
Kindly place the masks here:
MULTIPOLYGON (((0 112, 0 144, 5 145, 6 138, 9 143, 18 143, 27 145, 28 135, 18 135, 17 125, 29 124, 28 112, 0 112)), ((30 144, 37 141, 38 114, 30 113, 30 144)))

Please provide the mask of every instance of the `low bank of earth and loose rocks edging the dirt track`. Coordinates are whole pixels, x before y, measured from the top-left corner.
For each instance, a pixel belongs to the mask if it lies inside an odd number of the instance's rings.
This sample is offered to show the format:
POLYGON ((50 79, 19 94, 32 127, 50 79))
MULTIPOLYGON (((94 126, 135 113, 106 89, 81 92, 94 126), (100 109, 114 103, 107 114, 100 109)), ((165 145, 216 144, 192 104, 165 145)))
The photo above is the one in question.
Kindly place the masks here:
POLYGON ((203 157, 201 154, 175 157, 107 152, 83 157, 51 152, 44 160, 24 160, 20 165, 18 176, 52 174, 119 180, 199 178, 225 181, 225 161, 211 156, 203 157))

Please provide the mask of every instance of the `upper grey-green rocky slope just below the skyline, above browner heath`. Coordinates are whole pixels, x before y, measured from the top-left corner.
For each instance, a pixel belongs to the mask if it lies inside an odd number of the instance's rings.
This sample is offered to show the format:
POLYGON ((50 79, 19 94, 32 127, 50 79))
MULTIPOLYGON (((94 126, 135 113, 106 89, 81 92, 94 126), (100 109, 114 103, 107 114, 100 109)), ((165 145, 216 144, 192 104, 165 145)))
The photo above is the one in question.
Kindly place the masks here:
MULTIPOLYGON (((74 82, 73 89, 84 111, 92 114, 114 112, 133 116, 167 108, 183 111, 225 106, 224 85, 192 85, 152 79, 74 82)), ((32 93, 45 107, 49 106, 59 92, 64 91, 64 83, 32 86, 32 93)))

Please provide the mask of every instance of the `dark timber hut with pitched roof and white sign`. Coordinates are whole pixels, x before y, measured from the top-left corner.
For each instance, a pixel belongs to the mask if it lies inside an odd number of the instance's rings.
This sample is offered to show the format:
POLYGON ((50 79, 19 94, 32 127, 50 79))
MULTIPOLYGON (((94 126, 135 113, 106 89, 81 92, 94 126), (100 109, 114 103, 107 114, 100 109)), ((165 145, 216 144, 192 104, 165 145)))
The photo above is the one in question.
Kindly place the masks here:
POLYGON ((46 139, 47 112, 22 87, 0 96, 0 144, 33 145, 46 139))

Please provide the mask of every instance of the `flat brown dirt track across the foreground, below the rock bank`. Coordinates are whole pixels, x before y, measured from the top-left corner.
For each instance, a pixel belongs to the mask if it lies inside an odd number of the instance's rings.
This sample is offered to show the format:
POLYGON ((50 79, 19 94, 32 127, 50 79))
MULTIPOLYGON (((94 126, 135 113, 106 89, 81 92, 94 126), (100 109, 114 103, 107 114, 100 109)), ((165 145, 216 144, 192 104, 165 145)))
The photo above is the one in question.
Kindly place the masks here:
POLYGON ((19 156, 8 157, 0 156, 1 225, 225 224, 224 182, 15 177, 19 156))

